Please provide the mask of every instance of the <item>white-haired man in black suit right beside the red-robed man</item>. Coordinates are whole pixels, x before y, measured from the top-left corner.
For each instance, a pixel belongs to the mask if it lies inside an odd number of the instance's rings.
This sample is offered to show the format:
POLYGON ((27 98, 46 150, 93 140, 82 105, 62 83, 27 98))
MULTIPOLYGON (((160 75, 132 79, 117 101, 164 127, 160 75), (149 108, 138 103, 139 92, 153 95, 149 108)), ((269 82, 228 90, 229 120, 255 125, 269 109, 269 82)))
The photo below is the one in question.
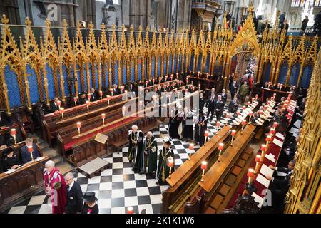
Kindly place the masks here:
POLYGON ((83 191, 78 182, 73 180, 73 173, 65 176, 67 184, 66 214, 80 214, 83 207, 83 191))

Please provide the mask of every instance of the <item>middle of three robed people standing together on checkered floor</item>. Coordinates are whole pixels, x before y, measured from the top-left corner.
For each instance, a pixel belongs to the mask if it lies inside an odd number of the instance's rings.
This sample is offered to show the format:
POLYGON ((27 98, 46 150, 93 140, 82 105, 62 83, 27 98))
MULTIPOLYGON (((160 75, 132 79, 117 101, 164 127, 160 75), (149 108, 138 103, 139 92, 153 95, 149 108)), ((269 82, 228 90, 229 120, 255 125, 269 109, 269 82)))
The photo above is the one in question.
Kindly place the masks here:
POLYGON ((144 148, 146 157, 148 157, 148 173, 157 170, 157 141, 153 133, 148 131, 144 140, 144 148))

